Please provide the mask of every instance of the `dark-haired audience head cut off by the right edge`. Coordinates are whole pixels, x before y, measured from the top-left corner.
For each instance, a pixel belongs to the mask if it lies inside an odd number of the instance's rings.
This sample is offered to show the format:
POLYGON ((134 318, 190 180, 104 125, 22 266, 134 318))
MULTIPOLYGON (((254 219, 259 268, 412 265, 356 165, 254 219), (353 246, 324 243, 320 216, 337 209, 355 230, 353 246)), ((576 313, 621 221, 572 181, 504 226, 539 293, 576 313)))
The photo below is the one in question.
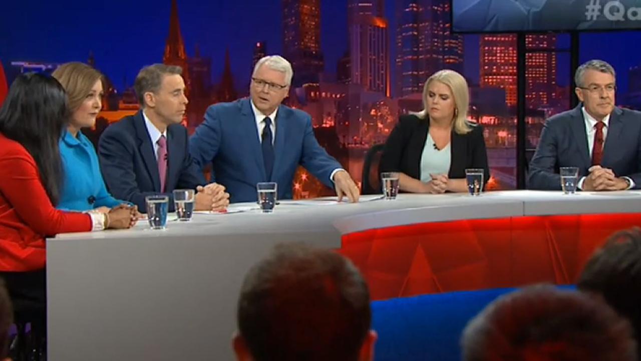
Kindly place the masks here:
POLYGON ((597 250, 579 276, 580 290, 594 292, 627 317, 641 340, 641 231, 615 233, 597 250))

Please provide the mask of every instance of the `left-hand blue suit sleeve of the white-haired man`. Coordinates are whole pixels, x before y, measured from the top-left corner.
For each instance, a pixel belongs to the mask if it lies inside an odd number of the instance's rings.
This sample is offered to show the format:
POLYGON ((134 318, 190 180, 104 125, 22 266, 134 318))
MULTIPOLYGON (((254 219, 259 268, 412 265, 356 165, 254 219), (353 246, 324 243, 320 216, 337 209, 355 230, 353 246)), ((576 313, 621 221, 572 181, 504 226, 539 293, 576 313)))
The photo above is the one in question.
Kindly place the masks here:
MULTIPOLYGON (((221 146, 221 121, 216 114, 215 108, 210 106, 204 114, 203 123, 196 128, 196 133, 189 140, 189 152, 197 171, 203 172, 203 168, 212 163, 221 146)), ((212 169, 212 179, 216 175, 212 169)))

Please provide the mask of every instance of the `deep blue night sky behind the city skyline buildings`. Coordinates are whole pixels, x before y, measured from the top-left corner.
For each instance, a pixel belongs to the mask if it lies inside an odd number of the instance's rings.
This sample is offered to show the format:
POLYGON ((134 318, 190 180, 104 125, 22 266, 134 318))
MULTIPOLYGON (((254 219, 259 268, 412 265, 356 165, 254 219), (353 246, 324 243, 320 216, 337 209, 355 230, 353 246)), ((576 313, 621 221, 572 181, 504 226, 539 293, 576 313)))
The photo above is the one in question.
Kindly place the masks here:
MULTIPOLYGON (((396 7, 399 3, 412 2, 430 3, 431 0, 384 1, 392 45, 399 20, 396 7)), ((114 0, 109 4, 65 0, 63 4, 26 0, 0 6, 3 10, 0 12, 0 62, 5 72, 11 73, 10 63, 15 61, 87 62, 92 53, 96 67, 122 91, 131 86, 144 65, 162 62, 171 0, 114 0)), ((178 8, 187 55, 194 56, 198 47, 202 56, 211 57, 214 82, 221 80, 227 50, 235 86, 244 87, 238 90, 246 90, 256 42, 266 42, 268 54, 283 54, 282 1, 179 0, 178 8)), ((329 74, 336 73, 338 61, 349 47, 347 8, 347 0, 320 0, 320 46, 325 58, 324 70, 329 74)), ((472 84, 478 83, 479 35, 463 35, 463 38, 463 75, 472 84)), ((622 75, 617 77, 619 88, 627 89, 628 69, 641 64, 641 49, 630 48, 629 44, 640 41, 641 31, 583 33, 580 60, 603 58, 612 63, 622 75), (616 49, 625 51, 626 56, 619 56, 616 49)), ((569 40, 563 39, 559 46, 569 46, 569 40)), ((396 53, 395 46, 391 46, 392 67, 396 53)), ((560 85, 567 85, 569 81, 566 68, 558 69, 560 85)), ((397 82, 396 78, 396 72, 392 71, 392 82, 397 82)))

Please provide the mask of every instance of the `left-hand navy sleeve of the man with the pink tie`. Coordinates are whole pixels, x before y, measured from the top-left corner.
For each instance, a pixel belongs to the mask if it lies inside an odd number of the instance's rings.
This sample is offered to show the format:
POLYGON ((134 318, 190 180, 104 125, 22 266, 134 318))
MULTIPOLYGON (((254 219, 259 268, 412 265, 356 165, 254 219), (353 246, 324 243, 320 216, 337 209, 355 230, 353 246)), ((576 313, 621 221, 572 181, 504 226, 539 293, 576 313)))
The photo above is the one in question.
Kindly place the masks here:
MULTIPOLYGON (((140 212, 147 212, 145 197, 158 194, 157 192, 141 192, 136 183, 133 169, 133 145, 126 144, 126 135, 114 131, 111 126, 104 130, 98 142, 98 155, 103 178, 113 196, 124 199, 138 206, 140 212)), ((171 192, 169 196, 169 212, 174 208, 171 192)))

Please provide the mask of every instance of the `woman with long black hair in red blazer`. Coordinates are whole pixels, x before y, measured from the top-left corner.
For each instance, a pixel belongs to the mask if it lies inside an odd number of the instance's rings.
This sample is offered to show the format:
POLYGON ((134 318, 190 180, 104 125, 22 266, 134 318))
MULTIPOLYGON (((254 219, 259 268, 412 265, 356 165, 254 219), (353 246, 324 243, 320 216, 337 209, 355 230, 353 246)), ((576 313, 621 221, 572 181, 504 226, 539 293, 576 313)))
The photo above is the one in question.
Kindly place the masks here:
POLYGON ((13 299, 45 302, 45 239, 65 232, 129 228, 133 209, 62 212, 58 140, 67 96, 54 78, 22 74, 0 108, 0 276, 13 299))

